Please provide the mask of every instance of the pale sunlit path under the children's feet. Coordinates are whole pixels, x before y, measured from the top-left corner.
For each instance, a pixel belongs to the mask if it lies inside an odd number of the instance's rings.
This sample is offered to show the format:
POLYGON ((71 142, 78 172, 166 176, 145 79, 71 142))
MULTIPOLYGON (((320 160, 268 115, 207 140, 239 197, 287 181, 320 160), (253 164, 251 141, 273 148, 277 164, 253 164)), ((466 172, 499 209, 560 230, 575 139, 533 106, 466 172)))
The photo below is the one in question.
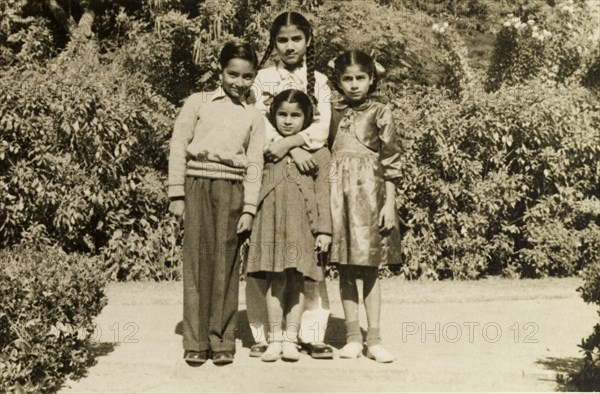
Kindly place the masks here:
MULTIPOLYGON (((181 359, 181 283, 111 284, 96 320, 97 364, 62 392, 554 391, 561 389, 557 374, 572 370, 577 344, 598 322, 597 308, 575 291, 576 278, 382 283, 382 336, 397 356, 392 364, 248 357, 242 284, 235 362, 199 368, 181 359)), ((343 313, 337 282, 328 285, 327 340, 339 348, 343 313)))

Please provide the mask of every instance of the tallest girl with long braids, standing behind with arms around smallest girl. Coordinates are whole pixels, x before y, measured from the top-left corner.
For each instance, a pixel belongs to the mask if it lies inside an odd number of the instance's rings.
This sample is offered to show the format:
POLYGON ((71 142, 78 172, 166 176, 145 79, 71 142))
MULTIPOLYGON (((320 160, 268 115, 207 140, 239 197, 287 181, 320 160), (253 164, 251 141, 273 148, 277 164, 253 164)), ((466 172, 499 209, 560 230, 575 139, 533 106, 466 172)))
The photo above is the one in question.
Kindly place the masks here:
MULTIPOLYGON (((316 169, 317 165, 311 152, 325 146, 331 120, 331 90, 327 84, 327 77, 315 70, 313 39, 312 27, 301 14, 285 12, 275 18, 270 30, 269 46, 259 68, 265 64, 273 51, 277 53, 279 60, 274 66, 259 70, 252 87, 256 107, 265 116, 269 112, 273 97, 286 89, 298 89, 311 97, 315 104, 315 117, 312 124, 301 132, 282 137, 270 122, 265 122, 265 159, 278 162, 289 154, 302 173, 316 169)), ((250 349, 252 357, 261 356, 267 348, 267 288, 268 283, 264 276, 257 273, 246 276, 248 320, 256 342, 250 349)), ((313 358, 331 359, 333 349, 323 343, 329 317, 325 283, 306 279, 304 291, 305 311, 300 325, 300 344, 313 358)))

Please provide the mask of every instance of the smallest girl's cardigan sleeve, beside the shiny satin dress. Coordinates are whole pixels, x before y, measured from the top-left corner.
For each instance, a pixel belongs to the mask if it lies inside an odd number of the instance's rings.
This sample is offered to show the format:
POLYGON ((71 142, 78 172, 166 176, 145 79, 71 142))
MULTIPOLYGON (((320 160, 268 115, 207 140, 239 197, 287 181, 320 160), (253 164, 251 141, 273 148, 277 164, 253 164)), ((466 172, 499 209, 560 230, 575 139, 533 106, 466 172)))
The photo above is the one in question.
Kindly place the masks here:
POLYGON ((331 228, 331 207, 329 203, 330 183, 335 182, 333 171, 335 167, 331 161, 331 154, 327 148, 321 148, 313 157, 316 159, 319 170, 315 179, 315 195, 317 197, 317 211, 319 218, 317 220, 317 233, 332 233, 331 228))

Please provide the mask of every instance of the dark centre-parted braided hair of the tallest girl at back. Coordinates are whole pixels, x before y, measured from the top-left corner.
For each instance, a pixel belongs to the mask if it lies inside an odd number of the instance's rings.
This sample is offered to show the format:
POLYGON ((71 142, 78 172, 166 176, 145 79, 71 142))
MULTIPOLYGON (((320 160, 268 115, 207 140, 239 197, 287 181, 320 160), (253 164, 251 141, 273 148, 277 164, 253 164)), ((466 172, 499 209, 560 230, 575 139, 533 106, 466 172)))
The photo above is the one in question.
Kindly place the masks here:
MULTIPOLYGON (((260 60, 258 68, 261 68, 269 56, 271 56, 271 53, 273 53, 273 49, 275 48, 275 39, 277 38, 279 30, 281 30, 283 26, 290 25, 296 26, 298 29, 300 29, 304 33, 306 41, 313 38, 312 26, 310 25, 310 22, 304 16, 302 16, 302 14, 293 11, 280 14, 277 18, 275 18, 273 24, 271 25, 271 30, 269 33, 269 46, 267 47, 263 58, 260 60)), ((306 92, 310 96, 315 95, 315 55, 313 48, 314 45, 309 45, 309 47, 306 48, 306 78, 308 80, 306 92)))

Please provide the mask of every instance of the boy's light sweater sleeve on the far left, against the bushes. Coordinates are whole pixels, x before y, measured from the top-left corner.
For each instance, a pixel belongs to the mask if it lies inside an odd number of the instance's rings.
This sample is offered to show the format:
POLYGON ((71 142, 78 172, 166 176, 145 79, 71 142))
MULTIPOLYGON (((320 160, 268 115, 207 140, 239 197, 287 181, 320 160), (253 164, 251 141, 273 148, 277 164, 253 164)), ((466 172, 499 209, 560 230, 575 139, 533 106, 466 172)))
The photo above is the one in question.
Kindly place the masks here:
POLYGON ((183 104, 175 120, 169 151, 169 176, 167 181, 169 198, 182 197, 185 194, 186 150, 194 137, 194 129, 198 121, 198 108, 202 102, 202 100, 198 100, 198 97, 200 96, 190 96, 183 104))

